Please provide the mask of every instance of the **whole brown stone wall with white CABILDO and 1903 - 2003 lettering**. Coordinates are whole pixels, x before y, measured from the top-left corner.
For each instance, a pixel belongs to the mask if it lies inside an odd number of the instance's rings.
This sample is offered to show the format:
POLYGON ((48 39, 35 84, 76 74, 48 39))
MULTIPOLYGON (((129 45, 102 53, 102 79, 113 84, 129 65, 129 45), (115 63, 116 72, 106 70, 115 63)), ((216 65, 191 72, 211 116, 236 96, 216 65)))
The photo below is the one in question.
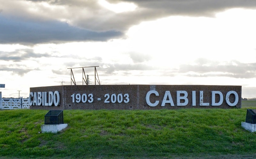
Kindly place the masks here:
POLYGON ((64 85, 30 88, 31 109, 241 108, 242 86, 64 85))

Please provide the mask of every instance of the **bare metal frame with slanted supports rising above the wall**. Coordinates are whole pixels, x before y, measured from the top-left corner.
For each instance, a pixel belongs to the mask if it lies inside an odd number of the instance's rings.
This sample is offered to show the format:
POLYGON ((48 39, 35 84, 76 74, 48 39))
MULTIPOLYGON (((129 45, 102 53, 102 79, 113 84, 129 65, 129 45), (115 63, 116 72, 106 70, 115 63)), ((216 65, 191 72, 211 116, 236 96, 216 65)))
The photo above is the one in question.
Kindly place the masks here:
MULTIPOLYGON (((96 81, 98 82, 99 85, 101 85, 100 83, 100 79, 99 79, 99 75, 98 75, 98 72, 97 72, 97 69, 96 67, 99 67, 99 66, 88 66, 88 67, 94 67, 94 79, 95 79, 95 85, 96 85, 96 81), (98 79, 96 78, 96 73, 97 73, 97 77, 98 79)), ((70 76, 71 76, 71 85, 72 85, 72 82, 74 85, 76 85, 76 80, 75 80, 75 77, 74 77, 74 74, 73 74, 73 71, 72 69, 75 69, 75 68, 82 68, 82 74, 83 74, 83 85, 84 85, 84 82, 86 85, 89 85, 89 76, 85 75, 85 70, 84 68, 88 68, 88 67, 74 67, 74 68, 68 68, 70 69, 70 76), (73 77, 73 78, 72 78, 73 77)))

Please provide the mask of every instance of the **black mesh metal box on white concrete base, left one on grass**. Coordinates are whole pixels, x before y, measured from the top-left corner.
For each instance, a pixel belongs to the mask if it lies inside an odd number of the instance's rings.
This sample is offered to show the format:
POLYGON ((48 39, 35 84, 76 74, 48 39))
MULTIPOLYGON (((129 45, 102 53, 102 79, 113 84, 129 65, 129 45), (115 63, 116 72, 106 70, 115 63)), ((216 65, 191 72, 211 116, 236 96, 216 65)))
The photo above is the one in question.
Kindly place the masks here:
POLYGON ((45 125, 64 124, 63 122, 63 110, 50 110, 44 115, 45 125))

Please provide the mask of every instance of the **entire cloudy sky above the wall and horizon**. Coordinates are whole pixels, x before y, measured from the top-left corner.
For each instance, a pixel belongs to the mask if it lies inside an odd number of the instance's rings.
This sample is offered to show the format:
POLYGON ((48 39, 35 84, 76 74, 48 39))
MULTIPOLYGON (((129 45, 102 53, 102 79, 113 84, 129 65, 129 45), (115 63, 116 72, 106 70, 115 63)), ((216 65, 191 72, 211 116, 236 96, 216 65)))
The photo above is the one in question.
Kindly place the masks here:
POLYGON ((28 97, 99 66, 103 85, 239 85, 253 98, 255 19, 255 0, 0 0, 0 91, 28 97))

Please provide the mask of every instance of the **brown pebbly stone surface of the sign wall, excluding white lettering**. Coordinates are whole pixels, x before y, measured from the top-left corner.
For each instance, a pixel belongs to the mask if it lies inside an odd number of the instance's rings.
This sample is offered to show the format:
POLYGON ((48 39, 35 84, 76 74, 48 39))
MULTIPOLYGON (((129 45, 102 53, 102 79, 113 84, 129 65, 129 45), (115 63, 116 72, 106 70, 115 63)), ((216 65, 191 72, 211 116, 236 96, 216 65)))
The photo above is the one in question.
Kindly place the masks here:
MULTIPOLYGON (((60 105, 59 106, 31 106, 31 109, 178 109, 178 108, 241 108, 241 89, 242 86, 211 86, 211 85, 64 85, 64 86, 46 86, 46 87, 33 87, 30 88, 30 92, 49 92, 59 91, 60 93, 60 105), (150 90, 155 90, 159 93, 159 96, 154 94, 150 95, 151 103, 159 100, 159 104, 155 107, 150 107, 146 102, 146 94, 150 90), (165 91, 170 91, 172 100, 175 106, 166 104, 161 107, 161 103, 165 94, 165 91), (186 106, 177 106, 177 91, 186 91, 188 93, 188 104, 186 106), (196 91, 196 106, 192 106, 192 91, 196 91), (210 106, 200 106, 200 91, 203 91, 203 102, 210 103, 210 106), (220 106, 211 106, 212 91, 220 91, 223 94, 223 102, 220 106), (225 101, 227 92, 235 91, 238 94, 238 103, 236 106, 229 106, 225 101), (89 103, 72 102, 71 95, 75 94, 93 94, 94 101, 89 103), (106 100, 105 94, 109 94, 109 103, 104 103, 106 100), (112 103, 111 95, 116 94, 129 94, 128 103, 112 103), (101 100, 97 100, 101 99, 101 100)), ((216 102, 219 100, 219 96, 216 95, 216 102)), ((123 98, 124 100, 125 98, 123 98)), ((76 99, 75 99, 76 100, 76 99)), ((230 102, 235 100, 234 95, 230 95, 230 102)))

